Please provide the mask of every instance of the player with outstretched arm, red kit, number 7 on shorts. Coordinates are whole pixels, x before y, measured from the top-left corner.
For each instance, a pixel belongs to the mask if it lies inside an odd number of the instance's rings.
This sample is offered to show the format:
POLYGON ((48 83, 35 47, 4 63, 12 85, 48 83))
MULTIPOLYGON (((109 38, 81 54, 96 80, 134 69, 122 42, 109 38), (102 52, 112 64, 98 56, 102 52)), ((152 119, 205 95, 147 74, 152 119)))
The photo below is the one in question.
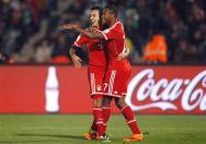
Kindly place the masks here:
MULTIPOLYGON (((62 29, 76 30, 89 38, 104 40, 106 42, 108 66, 104 79, 104 95, 107 97, 104 97, 103 107, 110 108, 111 100, 114 98, 117 108, 122 111, 133 131, 133 134, 123 139, 123 141, 142 141, 144 135, 137 125, 134 112, 125 102, 131 67, 126 58, 118 59, 118 55, 125 51, 125 32, 123 24, 117 20, 117 10, 114 5, 107 5, 103 10, 102 22, 107 26, 104 31, 84 31, 77 24, 67 24, 62 29)), ((103 112, 104 123, 107 123, 110 113, 110 109, 103 112)))

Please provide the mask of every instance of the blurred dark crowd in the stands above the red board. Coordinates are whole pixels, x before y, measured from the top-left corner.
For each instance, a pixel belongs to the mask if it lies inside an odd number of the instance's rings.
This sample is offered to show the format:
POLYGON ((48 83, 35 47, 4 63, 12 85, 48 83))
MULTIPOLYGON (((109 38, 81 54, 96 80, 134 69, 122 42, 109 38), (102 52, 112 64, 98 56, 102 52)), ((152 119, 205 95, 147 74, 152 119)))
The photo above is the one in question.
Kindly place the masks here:
POLYGON ((95 4, 118 7, 131 64, 206 64, 205 0, 1 0, 0 63, 70 64, 78 33, 57 26, 87 27, 95 4))

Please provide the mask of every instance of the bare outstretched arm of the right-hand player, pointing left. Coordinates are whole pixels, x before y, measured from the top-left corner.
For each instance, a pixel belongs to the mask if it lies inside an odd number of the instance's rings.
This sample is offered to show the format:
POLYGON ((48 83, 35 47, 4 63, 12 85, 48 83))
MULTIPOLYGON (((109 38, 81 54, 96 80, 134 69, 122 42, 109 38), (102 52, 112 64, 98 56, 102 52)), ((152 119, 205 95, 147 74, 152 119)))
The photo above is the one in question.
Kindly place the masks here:
POLYGON ((59 26, 61 30, 75 30, 79 32, 82 35, 85 35, 89 38, 98 38, 98 40, 104 40, 104 35, 99 31, 87 31, 81 27, 79 27, 77 24, 64 24, 59 26))

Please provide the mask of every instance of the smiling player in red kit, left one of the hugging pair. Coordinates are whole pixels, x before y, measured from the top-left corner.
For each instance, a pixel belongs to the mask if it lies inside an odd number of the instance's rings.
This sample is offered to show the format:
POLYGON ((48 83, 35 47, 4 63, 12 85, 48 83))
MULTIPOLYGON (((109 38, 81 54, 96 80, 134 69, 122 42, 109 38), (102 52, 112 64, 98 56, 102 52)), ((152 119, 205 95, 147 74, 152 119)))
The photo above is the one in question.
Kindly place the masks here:
MULTIPOLYGON (((92 7, 90 12, 90 22, 93 29, 100 29, 100 16, 102 9, 100 7, 92 7)), ((102 86, 106 70, 105 51, 102 47, 101 40, 91 40, 84 35, 79 35, 70 47, 70 56, 76 67, 81 67, 82 59, 76 55, 76 48, 87 44, 89 52, 88 79, 90 84, 90 93, 93 99, 93 123, 88 133, 84 134, 85 140, 99 139, 98 135, 104 133, 103 118, 102 118, 102 86), (98 132, 98 133, 96 133, 98 132)))

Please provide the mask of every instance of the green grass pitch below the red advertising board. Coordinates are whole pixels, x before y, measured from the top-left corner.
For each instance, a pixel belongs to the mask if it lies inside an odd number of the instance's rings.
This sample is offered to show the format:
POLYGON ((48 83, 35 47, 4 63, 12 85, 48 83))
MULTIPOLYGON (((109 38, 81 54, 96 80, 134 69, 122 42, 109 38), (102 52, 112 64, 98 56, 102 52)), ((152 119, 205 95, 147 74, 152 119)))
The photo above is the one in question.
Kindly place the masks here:
MULTIPOLYGON (((142 144, 205 144, 206 115, 139 115, 138 123, 148 134, 142 144)), ((91 115, 0 114, 0 144, 99 144, 84 141, 91 115)), ((130 134, 122 115, 112 115, 108 131, 112 144, 130 134)), ((133 144, 131 143, 131 144, 133 144)))

